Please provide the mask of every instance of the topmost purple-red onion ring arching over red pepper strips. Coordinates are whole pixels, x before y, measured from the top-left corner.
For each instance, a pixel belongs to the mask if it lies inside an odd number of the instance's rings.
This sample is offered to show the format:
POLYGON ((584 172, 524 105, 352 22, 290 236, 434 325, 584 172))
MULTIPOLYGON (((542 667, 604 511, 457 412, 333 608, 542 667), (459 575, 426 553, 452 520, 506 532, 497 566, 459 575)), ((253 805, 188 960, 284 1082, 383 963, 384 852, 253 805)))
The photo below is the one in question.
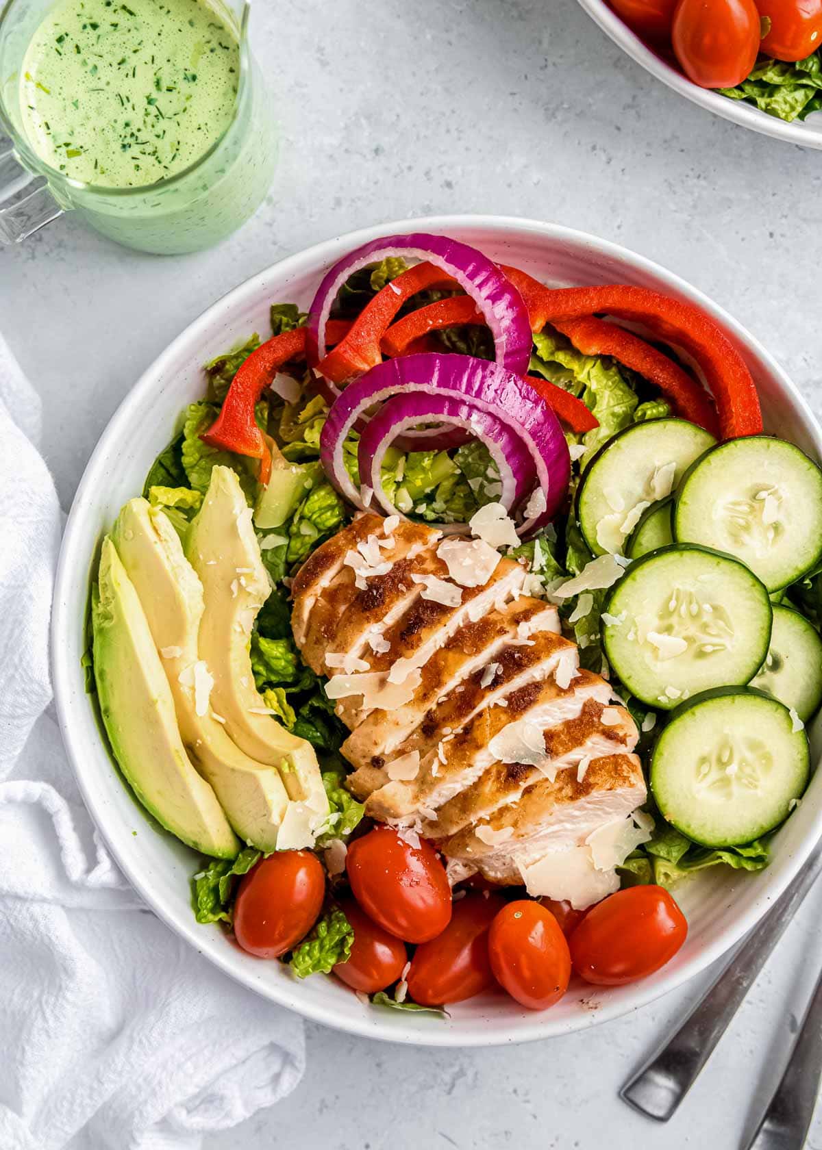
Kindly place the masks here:
POLYGON ((517 289, 475 247, 448 236, 427 232, 372 239, 349 252, 326 273, 309 309, 306 356, 311 367, 315 367, 326 354, 326 324, 342 285, 360 268, 390 256, 427 261, 456 279, 474 300, 490 328, 497 363, 509 371, 525 374, 531 359, 531 323, 517 289))

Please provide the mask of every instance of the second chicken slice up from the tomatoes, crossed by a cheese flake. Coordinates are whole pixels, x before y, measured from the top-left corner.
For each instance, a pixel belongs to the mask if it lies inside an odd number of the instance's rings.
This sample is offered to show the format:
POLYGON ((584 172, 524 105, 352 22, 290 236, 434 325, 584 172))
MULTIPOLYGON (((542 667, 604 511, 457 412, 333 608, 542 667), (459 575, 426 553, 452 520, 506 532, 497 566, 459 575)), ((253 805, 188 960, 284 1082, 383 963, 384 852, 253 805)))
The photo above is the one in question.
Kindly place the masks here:
MULTIPOLYGON (((580 676, 586 674, 588 673, 580 672, 580 676)), ((598 675, 592 677, 599 678, 598 675)), ((603 707, 601 695, 598 698, 589 697, 578 715, 545 730, 549 773, 555 776, 561 770, 576 773, 584 765, 585 775, 593 760, 633 751, 637 741, 637 728, 624 707, 603 707), (618 721, 603 726, 603 711, 610 712, 618 721)), ((431 805, 436 818, 424 821, 421 833, 426 838, 455 835, 470 823, 488 819, 502 807, 517 803, 528 787, 545 777, 545 768, 523 762, 496 761, 475 782, 461 789, 442 806, 434 800, 431 805)), ((368 802, 372 803, 379 795, 380 791, 372 795, 368 802)))

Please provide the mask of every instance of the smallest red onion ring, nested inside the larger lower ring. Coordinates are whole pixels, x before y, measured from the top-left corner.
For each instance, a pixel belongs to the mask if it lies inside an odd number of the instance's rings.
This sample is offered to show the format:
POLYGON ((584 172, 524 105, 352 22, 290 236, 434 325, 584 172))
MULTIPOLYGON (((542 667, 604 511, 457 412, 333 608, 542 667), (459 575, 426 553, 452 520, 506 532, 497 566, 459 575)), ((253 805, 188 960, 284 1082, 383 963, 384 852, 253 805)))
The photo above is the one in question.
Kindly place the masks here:
MULTIPOLYGON (((471 400, 416 391, 395 396, 383 404, 359 440, 360 481, 373 488, 374 499, 388 515, 401 512, 382 490, 382 460, 386 451, 395 436, 405 428, 431 420, 464 428, 469 437, 474 436, 486 445, 500 471, 502 490, 498 501, 505 511, 518 506, 533 491, 536 481, 534 461, 518 431, 513 431, 496 415, 478 411, 471 400)), ((455 524, 433 526, 455 530, 455 524)), ((457 524, 456 529, 463 530, 464 524, 457 524)))

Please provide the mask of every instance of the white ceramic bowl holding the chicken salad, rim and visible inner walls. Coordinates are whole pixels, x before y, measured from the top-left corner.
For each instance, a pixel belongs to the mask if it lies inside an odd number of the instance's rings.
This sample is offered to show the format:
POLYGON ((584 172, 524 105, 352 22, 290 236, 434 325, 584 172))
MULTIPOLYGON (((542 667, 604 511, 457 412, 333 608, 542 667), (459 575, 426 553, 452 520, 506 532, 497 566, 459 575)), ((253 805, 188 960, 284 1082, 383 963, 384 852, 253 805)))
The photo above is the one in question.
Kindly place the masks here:
POLYGON ((200 365, 252 330, 265 331, 268 305, 307 305, 322 273, 350 248, 406 231, 443 232, 555 284, 623 282, 656 289, 703 307, 739 346, 759 386, 766 425, 817 458, 822 434, 784 371, 729 315, 655 263, 624 248, 547 223, 495 216, 442 216, 389 223, 318 244, 282 260, 229 292, 196 320, 149 368, 108 424, 83 476, 66 528, 52 624, 54 689, 66 745, 85 802, 117 862, 150 906, 196 950, 245 986, 307 1018, 374 1038, 420 1045, 492 1045, 581 1029, 623 1014, 697 974, 740 938, 782 892, 822 833, 822 775, 774 844, 758 875, 720 868, 691 880, 677 896, 690 933, 677 957, 652 979, 600 989, 572 984, 545 1013, 494 996, 454 1007, 448 1020, 370 1007, 332 979, 305 982, 277 963, 234 946, 215 926, 195 921, 191 851, 143 814, 100 737, 84 693, 81 656, 92 562, 120 506, 140 491, 151 461, 169 442, 183 406, 201 397, 200 365))

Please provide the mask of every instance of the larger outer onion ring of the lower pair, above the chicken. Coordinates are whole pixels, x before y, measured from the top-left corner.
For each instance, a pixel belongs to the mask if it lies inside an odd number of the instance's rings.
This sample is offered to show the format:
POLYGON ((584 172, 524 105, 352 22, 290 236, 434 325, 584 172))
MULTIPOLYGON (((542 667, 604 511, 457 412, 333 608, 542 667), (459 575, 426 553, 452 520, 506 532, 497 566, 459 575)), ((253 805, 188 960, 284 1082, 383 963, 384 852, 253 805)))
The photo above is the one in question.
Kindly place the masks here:
MULTIPOLYGON (((345 436, 359 416, 375 404, 393 396, 405 400, 420 393, 463 400, 477 413, 495 416, 518 436, 528 451, 545 494, 545 508, 541 499, 534 500, 540 509, 519 531, 525 535, 550 522, 565 497, 571 475, 571 460, 560 421, 525 379, 497 363, 471 355, 428 353, 387 360, 348 385, 332 406, 320 436, 322 465, 347 499, 363 507, 359 491, 343 461, 345 436)), ((394 407, 394 417, 403 422, 406 411, 402 405, 394 407)), ((419 422, 419 416, 414 417, 419 422)), ((517 462, 516 466, 522 465, 517 462)), ((375 490, 381 490, 381 485, 375 490)))

